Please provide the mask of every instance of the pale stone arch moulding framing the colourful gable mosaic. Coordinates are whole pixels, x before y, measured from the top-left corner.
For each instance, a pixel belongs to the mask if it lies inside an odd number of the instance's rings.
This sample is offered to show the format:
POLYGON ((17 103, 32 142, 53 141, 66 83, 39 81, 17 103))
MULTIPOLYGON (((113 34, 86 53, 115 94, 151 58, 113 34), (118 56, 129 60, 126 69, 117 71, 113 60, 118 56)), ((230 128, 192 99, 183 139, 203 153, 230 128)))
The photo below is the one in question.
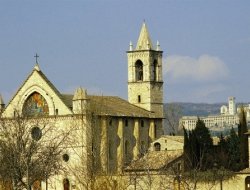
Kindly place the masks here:
POLYGON ((26 90, 22 94, 21 100, 19 102, 19 110, 23 111, 23 106, 24 106, 27 98, 30 97, 35 92, 39 93, 47 102, 48 115, 54 115, 55 114, 55 105, 54 105, 52 97, 49 96, 48 93, 43 88, 41 88, 37 85, 31 86, 28 90, 26 90))

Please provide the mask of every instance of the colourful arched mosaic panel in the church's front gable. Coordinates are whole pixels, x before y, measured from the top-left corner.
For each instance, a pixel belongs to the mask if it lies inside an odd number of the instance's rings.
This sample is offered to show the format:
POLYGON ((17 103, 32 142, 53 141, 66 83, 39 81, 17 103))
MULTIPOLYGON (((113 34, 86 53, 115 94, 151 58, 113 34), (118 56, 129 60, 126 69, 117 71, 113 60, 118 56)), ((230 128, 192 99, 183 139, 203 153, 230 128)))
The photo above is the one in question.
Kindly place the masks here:
POLYGON ((38 92, 33 92, 24 102, 23 115, 31 117, 49 115, 45 98, 38 92))

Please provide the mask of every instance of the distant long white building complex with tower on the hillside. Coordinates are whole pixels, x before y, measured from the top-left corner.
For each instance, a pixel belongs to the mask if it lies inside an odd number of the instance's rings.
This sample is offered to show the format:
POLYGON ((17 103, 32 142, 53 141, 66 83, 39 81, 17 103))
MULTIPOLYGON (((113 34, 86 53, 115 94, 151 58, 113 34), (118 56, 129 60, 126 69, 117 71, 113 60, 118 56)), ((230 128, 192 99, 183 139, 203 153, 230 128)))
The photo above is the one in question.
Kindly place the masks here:
MULTIPOLYGON (((250 121, 250 105, 244 106, 244 109, 246 111, 247 120, 250 121)), ((199 118, 203 120, 206 127, 210 129, 223 129, 233 127, 239 123, 239 112, 240 107, 236 108, 235 97, 229 97, 228 106, 221 106, 219 115, 199 118)), ((183 116, 180 119, 179 125, 180 127, 185 127, 185 129, 192 130, 195 128, 197 120, 197 116, 183 116)))

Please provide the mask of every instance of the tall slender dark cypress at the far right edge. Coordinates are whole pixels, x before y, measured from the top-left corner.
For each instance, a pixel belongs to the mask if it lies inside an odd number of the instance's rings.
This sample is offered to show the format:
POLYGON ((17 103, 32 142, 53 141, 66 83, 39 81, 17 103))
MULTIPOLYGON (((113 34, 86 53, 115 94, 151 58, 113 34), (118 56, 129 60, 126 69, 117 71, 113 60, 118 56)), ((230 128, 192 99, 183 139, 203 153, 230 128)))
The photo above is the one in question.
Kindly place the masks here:
POLYGON ((241 169, 248 167, 248 137, 246 135, 247 131, 248 130, 247 130, 246 112, 244 110, 244 107, 241 106, 239 114, 239 124, 238 124, 241 169))

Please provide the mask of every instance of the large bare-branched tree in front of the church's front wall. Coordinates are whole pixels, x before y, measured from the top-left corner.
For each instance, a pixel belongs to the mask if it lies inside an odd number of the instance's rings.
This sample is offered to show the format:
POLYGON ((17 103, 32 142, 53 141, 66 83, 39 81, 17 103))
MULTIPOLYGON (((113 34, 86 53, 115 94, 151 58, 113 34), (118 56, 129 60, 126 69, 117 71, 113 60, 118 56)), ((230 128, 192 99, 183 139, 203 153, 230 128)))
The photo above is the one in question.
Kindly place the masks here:
POLYGON ((34 183, 60 173, 62 146, 69 131, 49 118, 0 118, 0 178, 13 190, 30 190, 34 183))

